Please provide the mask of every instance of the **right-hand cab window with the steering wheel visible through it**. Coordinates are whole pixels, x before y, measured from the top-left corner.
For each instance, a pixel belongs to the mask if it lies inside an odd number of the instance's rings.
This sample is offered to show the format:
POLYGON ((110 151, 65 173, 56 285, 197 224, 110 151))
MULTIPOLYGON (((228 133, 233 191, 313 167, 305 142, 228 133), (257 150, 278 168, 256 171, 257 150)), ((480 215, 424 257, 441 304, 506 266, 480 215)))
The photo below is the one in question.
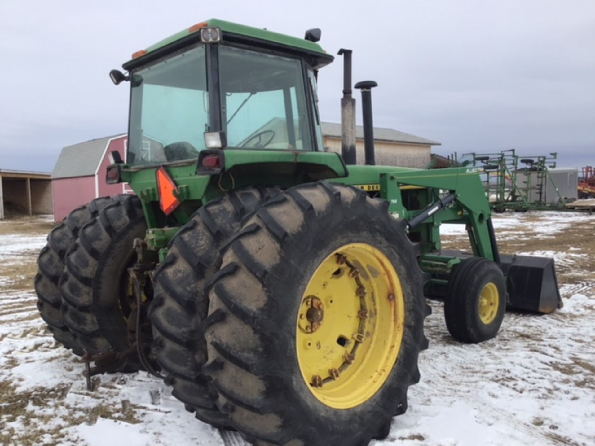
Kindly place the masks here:
POLYGON ((313 150, 299 59, 221 46, 219 67, 229 147, 313 150))

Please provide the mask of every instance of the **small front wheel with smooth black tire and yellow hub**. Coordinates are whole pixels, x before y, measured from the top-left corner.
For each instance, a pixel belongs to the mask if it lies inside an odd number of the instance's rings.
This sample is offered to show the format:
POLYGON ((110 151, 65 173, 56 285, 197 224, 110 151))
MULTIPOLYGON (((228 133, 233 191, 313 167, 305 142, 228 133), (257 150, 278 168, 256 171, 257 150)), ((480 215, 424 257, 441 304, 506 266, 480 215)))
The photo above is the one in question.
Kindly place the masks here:
POLYGON ((483 257, 455 266, 444 298, 444 318, 450 335, 478 344, 496 337, 506 310, 502 269, 483 257))

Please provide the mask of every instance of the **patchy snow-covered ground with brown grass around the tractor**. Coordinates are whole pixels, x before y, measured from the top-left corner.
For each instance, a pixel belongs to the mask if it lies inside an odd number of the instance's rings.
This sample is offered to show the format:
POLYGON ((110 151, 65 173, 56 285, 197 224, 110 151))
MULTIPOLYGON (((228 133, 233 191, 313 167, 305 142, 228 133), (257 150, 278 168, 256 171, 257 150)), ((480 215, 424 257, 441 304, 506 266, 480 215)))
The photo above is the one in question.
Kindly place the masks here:
MULTIPOLYGON (((442 304, 431 301, 421 382, 374 446, 595 444, 595 216, 494 220, 502 252, 556 258, 565 306, 544 316, 507 313, 494 340, 468 346, 450 338, 442 304)), ((145 372, 98 376, 86 390, 81 360, 37 315, 32 277, 49 228, 43 219, 0 221, 0 444, 242 444, 233 435, 224 442, 145 372)), ((465 249, 464 227, 443 235, 445 247, 465 249)))

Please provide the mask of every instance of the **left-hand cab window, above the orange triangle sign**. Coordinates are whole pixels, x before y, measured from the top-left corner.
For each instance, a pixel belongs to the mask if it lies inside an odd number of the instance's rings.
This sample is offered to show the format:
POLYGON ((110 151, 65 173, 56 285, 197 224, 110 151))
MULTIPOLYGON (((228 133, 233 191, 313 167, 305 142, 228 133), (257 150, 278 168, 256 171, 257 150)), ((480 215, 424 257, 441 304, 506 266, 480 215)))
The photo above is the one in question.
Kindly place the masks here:
POLYGON ((136 71, 131 84, 127 163, 196 159, 209 123, 204 46, 136 71))

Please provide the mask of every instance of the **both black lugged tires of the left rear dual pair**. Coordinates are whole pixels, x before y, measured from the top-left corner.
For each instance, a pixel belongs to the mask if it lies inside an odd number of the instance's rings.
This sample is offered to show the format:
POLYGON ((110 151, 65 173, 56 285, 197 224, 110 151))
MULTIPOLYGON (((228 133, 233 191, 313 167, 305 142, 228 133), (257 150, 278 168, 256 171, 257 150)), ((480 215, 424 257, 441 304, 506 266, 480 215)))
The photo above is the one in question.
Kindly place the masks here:
MULTIPOLYGON (((133 195, 93 200, 52 231, 35 283, 40 313, 58 342, 79 355, 131 350, 127 268, 134 238, 145 233, 142 205, 133 195)), ((129 355, 110 371, 139 368, 129 355)))

